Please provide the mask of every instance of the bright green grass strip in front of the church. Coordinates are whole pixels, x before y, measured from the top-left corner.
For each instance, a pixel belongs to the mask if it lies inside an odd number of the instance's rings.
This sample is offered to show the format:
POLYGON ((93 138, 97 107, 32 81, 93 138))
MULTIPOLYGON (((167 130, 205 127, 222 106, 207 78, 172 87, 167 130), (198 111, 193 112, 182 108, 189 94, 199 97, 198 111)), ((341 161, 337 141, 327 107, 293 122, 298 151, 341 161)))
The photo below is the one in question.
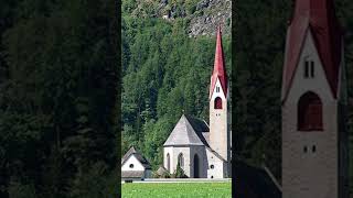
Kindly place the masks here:
POLYGON ((128 183, 121 184, 124 198, 232 197, 228 183, 128 183))

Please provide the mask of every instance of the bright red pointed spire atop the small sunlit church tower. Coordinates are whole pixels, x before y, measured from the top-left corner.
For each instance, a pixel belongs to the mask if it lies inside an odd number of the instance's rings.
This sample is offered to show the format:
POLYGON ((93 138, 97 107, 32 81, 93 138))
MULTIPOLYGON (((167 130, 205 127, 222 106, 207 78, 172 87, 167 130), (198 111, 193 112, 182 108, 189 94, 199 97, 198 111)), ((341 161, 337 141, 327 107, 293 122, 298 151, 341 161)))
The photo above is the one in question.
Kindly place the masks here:
POLYGON ((218 30, 217 30, 216 52, 215 52, 215 56, 214 56, 213 74, 211 77, 210 98, 213 94, 217 78, 221 81, 221 86, 222 86, 222 89, 223 89, 225 96, 227 96, 227 88, 228 88, 227 82, 228 81, 227 81, 227 74, 225 70, 225 63, 224 63, 221 25, 218 25, 218 30))

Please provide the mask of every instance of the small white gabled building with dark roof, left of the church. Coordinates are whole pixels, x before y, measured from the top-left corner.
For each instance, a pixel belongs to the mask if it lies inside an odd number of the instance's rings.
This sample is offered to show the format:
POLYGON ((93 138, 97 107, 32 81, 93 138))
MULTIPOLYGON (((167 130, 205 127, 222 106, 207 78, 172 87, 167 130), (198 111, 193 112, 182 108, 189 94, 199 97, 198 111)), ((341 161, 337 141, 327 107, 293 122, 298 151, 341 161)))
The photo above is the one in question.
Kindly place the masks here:
POLYGON ((121 180, 142 180, 151 175, 150 163, 132 146, 121 158, 121 180))

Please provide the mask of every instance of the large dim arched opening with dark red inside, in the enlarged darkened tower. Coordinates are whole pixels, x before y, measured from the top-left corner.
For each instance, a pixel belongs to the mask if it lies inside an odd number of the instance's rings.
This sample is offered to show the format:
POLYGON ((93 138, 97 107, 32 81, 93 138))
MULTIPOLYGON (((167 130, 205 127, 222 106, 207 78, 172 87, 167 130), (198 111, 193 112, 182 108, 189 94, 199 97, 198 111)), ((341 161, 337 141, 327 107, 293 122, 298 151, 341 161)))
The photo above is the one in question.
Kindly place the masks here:
POLYGON ((307 92, 298 102, 298 130, 322 131, 322 102, 314 92, 307 92))

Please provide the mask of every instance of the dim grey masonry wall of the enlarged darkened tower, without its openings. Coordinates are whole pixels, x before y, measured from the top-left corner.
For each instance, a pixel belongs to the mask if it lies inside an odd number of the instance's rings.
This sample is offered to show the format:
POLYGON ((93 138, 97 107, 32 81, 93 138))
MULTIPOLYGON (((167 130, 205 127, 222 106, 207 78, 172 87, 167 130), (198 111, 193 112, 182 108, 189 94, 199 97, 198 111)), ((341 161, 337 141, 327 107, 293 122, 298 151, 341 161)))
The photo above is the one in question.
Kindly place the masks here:
POLYGON ((282 105, 282 197, 338 197, 338 102, 319 58, 310 31, 299 65, 282 105), (314 62, 314 78, 304 78, 304 59, 314 62), (322 102, 323 131, 297 131, 298 101, 307 91, 322 102), (308 152, 303 152, 303 147, 308 152), (312 152, 315 146, 315 152, 312 152))

